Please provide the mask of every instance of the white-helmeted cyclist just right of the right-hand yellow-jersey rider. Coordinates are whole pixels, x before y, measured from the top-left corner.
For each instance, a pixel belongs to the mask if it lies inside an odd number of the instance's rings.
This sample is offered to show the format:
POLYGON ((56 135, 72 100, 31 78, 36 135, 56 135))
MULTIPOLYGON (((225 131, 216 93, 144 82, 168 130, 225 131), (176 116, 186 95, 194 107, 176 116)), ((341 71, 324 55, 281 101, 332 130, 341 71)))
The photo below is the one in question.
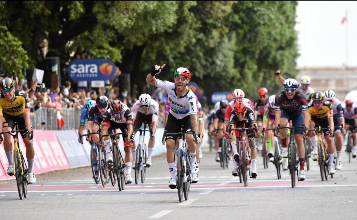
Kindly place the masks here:
MULTIPOLYGON (((333 124, 335 126, 340 126, 342 127, 342 130, 340 128, 336 128, 334 130, 334 135, 335 135, 335 144, 336 144, 336 155, 337 155, 337 161, 340 161, 341 158, 341 150, 342 150, 342 143, 343 143, 343 133, 345 133, 345 128, 343 125, 345 124, 345 119, 343 118, 343 109, 340 100, 336 98, 336 94, 334 91, 328 89, 324 93, 324 98, 326 101, 329 101, 332 104, 332 110, 333 110, 333 124)), ((341 163, 337 163, 336 169, 339 170, 342 168, 341 163)))

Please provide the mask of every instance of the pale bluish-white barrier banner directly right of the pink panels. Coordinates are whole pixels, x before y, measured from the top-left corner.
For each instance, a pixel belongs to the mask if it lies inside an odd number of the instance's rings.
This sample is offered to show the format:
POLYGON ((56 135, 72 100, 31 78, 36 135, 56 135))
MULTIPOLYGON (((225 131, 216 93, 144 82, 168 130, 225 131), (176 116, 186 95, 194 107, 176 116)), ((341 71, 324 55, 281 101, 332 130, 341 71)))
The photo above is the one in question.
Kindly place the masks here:
POLYGON ((87 153, 78 142, 78 136, 75 130, 55 131, 55 134, 61 143, 71 168, 90 165, 89 157, 87 157, 87 153))

